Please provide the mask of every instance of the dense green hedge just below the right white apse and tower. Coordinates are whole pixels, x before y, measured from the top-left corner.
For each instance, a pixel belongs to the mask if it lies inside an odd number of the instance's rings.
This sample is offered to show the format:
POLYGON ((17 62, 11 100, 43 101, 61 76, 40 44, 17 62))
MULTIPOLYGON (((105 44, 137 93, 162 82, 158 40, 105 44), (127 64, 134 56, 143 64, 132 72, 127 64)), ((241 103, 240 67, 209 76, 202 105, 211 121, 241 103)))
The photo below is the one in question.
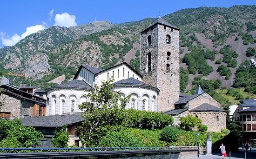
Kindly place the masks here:
POLYGON ((173 124, 173 118, 169 115, 159 112, 138 111, 126 109, 126 125, 132 128, 141 129, 162 129, 165 126, 173 124))

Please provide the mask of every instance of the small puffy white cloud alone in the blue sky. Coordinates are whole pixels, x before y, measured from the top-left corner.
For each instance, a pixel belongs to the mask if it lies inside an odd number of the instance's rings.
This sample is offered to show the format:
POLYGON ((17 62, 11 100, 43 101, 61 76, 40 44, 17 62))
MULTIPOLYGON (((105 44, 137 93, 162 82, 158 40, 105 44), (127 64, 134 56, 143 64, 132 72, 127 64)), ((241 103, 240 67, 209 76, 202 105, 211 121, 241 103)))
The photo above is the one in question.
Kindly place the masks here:
POLYGON ((76 26, 75 15, 70 15, 68 13, 56 14, 55 15, 55 24, 54 26, 76 26))

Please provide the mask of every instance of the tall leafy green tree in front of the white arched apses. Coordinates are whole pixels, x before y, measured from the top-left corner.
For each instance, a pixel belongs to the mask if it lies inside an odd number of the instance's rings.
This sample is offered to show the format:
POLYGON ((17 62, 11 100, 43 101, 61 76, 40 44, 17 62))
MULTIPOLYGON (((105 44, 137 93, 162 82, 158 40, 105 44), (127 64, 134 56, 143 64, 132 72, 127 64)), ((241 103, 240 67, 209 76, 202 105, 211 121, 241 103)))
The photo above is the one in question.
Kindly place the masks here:
POLYGON ((122 126, 126 119, 123 111, 130 96, 122 98, 118 91, 113 91, 114 80, 102 81, 95 85, 87 98, 93 102, 84 102, 79 108, 84 111, 85 121, 78 128, 83 145, 95 146, 101 138, 97 132, 104 126, 122 126))

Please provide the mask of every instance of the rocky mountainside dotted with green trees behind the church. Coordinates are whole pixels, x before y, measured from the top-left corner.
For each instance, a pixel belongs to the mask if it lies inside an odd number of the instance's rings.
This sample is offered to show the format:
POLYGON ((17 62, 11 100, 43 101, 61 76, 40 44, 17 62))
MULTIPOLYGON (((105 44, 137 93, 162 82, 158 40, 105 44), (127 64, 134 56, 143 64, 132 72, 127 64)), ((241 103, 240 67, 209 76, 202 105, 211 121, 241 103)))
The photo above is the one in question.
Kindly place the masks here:
MULTIPOLYGON (((256 57, 256 6, 199 7, 162 17, 180 29, 181 90, 194 85, 245 87, 253 92, 256 57), (236 71, 238 71, 236 73, 236 71)), ((70 28, 52 26, 15 46, 0 49, 1 68, 31 77, 47 87, 55 78, 70 80, 81 64, 107 68, 126 61, 139 70, 140 32, 153 18, 123 24, 94 21, 70 28), (61 76, 64 77, 64 76, 61 76)), ((14 84, 20 77, 10 76, 14 84)))

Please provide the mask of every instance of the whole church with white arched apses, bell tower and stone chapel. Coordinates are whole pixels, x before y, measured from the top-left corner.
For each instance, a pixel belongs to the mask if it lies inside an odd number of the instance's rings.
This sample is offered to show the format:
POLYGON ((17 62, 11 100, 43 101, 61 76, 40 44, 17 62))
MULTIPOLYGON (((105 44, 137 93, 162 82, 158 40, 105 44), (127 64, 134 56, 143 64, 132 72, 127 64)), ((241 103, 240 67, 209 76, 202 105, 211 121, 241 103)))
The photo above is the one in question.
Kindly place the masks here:
POLYGON ((126 62, 108 69, 81 65, 74 79, 47 92, 47 115, 81 113, 79 105, 94 85, 114 78, 114 91, 131 95, 127 109, 162 112, 177 118, 193 115, 209 131, 226 128, 226 112, 199 86, 194 95, 180 93, 179 29, 158 17, 141 31, 140 73, 126 62))

